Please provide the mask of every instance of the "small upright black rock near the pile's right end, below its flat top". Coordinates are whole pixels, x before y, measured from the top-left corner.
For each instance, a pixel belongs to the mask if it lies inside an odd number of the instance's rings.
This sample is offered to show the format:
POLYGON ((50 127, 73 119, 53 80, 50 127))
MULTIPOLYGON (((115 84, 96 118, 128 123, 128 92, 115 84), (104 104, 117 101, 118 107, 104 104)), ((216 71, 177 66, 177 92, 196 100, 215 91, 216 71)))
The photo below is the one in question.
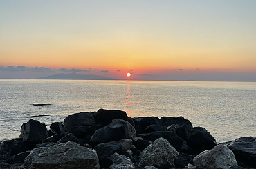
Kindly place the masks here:
POLYGON ((184 141, 188 141, 188 138, 192 136, 192 124, 190 122, 183 123, 182 126, 176 128, 176 134, 184 141))

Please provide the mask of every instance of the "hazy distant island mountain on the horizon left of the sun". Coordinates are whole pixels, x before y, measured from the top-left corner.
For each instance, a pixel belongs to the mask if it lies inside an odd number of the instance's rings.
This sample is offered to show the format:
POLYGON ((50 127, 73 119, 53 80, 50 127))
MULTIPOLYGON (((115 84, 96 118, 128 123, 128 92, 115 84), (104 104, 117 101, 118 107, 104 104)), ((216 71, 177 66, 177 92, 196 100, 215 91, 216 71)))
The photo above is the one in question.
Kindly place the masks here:
POLYGON ((77 79, 77 80, 115 80, 111 77, 103 77, 93 74, 77 74, 77 73, 69 73, 69 74, 53 74, 48 77, 39 77, 37 79, 77 79))

